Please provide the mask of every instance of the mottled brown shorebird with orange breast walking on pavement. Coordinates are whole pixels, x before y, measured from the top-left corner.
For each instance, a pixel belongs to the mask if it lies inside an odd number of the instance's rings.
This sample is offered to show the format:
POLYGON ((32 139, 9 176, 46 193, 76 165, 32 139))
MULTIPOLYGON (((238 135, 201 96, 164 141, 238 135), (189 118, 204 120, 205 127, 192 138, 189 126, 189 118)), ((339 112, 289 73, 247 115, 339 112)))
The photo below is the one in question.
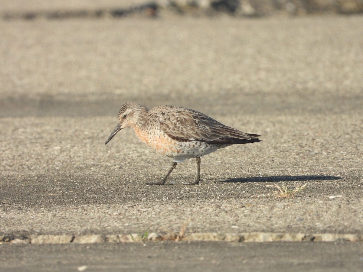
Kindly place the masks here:
POLYGON ((164 185, 178 162, 196 158, 197 178, 187 185, 199 184, 200 157, 232 144, 261 141, 260 135, 244 133, 228 127, 201 112, 175 106, 157 106, 148 110, 136 103, 123 104, 118 112, 118 124, 107 139, 123 128, 133 128, 136 136, 160 154, 173 159, 173 164, 160 182, 147 185, 164 185))

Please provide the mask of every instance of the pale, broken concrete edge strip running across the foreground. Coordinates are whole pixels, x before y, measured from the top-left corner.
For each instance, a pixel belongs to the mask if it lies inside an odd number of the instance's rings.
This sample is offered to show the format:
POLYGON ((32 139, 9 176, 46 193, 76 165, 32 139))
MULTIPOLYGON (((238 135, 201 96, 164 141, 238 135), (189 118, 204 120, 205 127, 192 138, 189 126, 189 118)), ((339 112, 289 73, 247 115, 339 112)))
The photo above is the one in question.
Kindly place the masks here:
POLYGON ((226 241, 226 242, 363 242, 363 234, 303 234, 274 232, 217 233, 197 232, 184 236, 177 234, 86 234, 86 235, 0 235, 0 244, 94 244, 94 243, 134 243, 146 241, 226 241))

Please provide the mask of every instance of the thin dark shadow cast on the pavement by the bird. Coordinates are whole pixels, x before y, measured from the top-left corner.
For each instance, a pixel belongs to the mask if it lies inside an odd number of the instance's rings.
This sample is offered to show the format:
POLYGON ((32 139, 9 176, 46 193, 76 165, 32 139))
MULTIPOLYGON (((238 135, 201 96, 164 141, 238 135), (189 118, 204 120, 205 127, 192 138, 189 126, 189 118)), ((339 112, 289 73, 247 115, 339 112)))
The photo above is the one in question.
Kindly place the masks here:
POLYGON ((276 182, 276 181, 312 181, 312 180, 340 180, 342 177, 337 176, 269 176, 269 177, 248 177, 248 178, 231 178, 220 182, 276 182))

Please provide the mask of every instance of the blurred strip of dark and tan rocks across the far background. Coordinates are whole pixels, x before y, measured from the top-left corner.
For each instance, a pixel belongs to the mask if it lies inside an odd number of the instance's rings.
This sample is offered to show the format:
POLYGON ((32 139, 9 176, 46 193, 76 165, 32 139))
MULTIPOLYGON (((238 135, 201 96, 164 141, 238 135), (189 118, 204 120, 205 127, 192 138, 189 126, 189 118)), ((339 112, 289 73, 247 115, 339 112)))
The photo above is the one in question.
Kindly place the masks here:
MULTIPOLYGON (((131 1, 132 2, 132 1, 131 1)), ((363 13, 363 0, 155 0, 123 8, 97 10, 55 10, 2 12, 4 20, 52 20, 80 17, 125 17, 142 15, 156 17, 159 12, 171 11, 179 15, 215 16, 227 13, 234 16, 256 17, 274 15, 342 14, 363 13)))

